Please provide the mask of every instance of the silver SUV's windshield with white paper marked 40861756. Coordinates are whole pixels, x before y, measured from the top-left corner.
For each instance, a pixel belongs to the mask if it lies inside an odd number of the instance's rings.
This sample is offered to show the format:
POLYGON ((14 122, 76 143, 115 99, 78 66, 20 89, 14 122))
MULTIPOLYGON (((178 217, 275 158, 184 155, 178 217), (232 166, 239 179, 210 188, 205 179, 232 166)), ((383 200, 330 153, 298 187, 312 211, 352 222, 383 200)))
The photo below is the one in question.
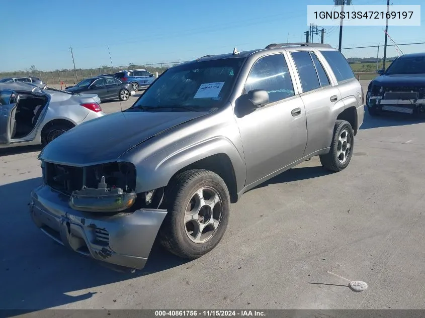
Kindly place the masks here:
POLYGON ((164 72, 129 110, 209 110, 228 99, 243 58, 194 62, 164 72))

